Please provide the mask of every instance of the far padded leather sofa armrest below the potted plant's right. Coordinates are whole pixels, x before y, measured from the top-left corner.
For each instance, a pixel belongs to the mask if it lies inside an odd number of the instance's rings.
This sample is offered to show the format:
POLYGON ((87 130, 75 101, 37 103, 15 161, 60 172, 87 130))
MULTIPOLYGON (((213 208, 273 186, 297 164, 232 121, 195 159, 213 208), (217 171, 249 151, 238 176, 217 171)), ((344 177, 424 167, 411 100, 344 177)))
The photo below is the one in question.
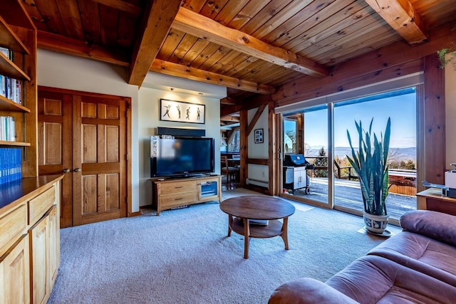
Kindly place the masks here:
POLYGON ((430 210, 408 211, 400 217, 403 231, 456 246, 456 216, 430 210))

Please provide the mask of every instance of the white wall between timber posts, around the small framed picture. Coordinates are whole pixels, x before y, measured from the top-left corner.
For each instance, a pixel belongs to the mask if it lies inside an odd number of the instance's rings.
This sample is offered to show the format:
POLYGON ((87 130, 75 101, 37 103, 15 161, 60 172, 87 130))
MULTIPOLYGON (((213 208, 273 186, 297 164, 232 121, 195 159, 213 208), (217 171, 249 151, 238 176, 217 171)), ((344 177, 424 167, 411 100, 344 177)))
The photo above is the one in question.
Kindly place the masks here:
MULTIPOLYGON (((249 110, 247 117, 252 121, 257 108, 249 110)), ((268 108, 264 108, 259 120, 249 134, 249 158, 269 159, 269 129, 268 129, 268 108), (255 143, 255 130, 263 129, 263 143, 255 143)), ((269 167, 261 164, 249 164, 249 179, 256 179, 262 182, 269 181, 269 167)))

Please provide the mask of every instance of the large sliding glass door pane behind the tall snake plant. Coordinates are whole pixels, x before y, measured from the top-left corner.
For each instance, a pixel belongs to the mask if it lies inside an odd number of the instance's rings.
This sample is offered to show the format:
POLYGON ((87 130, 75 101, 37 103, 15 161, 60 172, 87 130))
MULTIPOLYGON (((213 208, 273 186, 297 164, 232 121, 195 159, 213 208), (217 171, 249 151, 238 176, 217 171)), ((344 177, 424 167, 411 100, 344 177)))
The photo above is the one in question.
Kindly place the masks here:
POLYGON ((346 155, 351 155, 347 132, 358 150, 355 122, 381 136, 391 118, 391 140, 388 164, 390 195, 388 214, 393 219, 410 209, 416 209, 416 90, 407 88, 334 103, 334 207, 348 211, 363 211, 361 189, 346 155))

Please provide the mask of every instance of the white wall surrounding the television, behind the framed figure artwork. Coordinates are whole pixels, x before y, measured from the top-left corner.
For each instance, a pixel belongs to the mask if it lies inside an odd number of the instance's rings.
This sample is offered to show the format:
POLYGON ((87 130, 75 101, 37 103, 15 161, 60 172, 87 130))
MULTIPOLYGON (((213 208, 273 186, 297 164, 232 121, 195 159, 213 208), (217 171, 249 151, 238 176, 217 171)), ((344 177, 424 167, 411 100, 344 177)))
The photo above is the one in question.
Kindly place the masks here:
MULTIPOLYGON (((150 183, 150 136, 157 135, 157 127, 177 127, 185 129, 204 129, 205 137, 215 139, 215 171, 220 173, 220 100, 219 98, 207 98, 185 93, 176 93, 175 90, 157 90, 142 85, 139 91, 138 113, 138 140, 140 159, 140 206, 152 204, 152 184, 150 183), (160 98, 183 101, 186 103, 198 103, 206 105, 206 120, 204 125, 185 122, 168 122, 160 120, 160 98)), ((199 84, 204 87, 204 84, 199 84)), ((226 89, 224 90, 226 94, 226 89)))

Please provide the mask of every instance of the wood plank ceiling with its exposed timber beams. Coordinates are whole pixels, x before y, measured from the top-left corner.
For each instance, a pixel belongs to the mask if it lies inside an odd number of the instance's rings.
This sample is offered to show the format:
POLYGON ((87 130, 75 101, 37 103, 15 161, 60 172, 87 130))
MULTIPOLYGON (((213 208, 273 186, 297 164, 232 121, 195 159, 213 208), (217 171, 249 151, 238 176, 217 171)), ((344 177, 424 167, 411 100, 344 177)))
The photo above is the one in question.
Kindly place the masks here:
POLYGON ((456 19, 454 0, 18 0, 38 47, 226 86, 224 104, 271 94, 456 19))

